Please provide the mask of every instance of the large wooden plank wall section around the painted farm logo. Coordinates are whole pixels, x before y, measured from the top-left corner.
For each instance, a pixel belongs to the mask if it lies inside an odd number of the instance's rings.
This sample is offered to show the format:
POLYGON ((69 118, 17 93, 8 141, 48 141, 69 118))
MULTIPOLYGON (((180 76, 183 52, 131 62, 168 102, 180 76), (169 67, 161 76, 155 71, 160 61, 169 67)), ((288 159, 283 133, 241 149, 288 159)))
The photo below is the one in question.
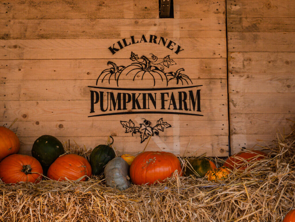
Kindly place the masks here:
MULTIPOLYGON (((1 4, 0 124, 9 126, 18 118, 12 130, 22 142, 21 153, 29 154, 43 134, 72 144, 75 140, 87 148, 105 143, 112 134, 118 150, 141 151, 145 143, 124 132, 118 125, 121 116, 88 117, 87 86, 94 85, 110 59, 119 63, 129 59, 133 46, 112 55, 110 45, 130 35, 153 34, 185 48, 185 54, 170 53, 171 57, 185 65, 193 81, 204 85, 205 115, 165 116, 166 121, 182 125, 179 135, 169 129, 160 138, 169 148, 180 138, 181 155, 189 144, 188 155, 196 149, 198 154, 228 155, 225 0, 174 0, 174 19, 158 18, 158 0, 3 0, 1 4)), ((149 47, 140 53, 149 54, 149 47)), ((153 53, 165 56, 167 50, 158 46, 153 53)), ((153 115, 148 118, 157 120, 153 115)), ((151 140, 148 150, 160 149, 151 140)))

